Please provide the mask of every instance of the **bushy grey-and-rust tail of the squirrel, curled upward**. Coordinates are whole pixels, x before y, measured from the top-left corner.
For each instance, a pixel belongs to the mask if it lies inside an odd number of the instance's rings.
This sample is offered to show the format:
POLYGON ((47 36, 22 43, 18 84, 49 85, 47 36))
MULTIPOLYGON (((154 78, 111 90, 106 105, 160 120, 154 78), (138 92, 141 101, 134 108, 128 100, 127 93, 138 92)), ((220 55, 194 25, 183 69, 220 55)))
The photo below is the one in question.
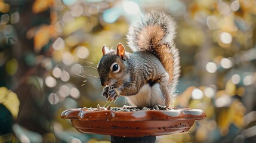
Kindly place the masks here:
POLYGON ((180 76, 180 57, 175 48, 175 21, 165 13, 147 13, 129 27, 128 46, 132 51, 150 51, 169 73, 169 87, 175 94, 180 76))

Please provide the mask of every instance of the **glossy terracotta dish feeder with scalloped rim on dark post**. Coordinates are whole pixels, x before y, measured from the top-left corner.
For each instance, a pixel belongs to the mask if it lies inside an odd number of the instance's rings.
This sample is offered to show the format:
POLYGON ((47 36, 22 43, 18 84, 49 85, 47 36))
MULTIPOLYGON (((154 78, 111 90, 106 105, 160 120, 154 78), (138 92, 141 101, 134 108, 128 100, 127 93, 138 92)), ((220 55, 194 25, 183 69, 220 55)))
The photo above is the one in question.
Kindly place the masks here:
POLYGON ((73 108, 61 118, 70 119, 81 133, 110 135, 111 142, 155 142, 156 136, 187 132, 195 120, 205 119, 203 110, 190 108, 106 109, 73 108))

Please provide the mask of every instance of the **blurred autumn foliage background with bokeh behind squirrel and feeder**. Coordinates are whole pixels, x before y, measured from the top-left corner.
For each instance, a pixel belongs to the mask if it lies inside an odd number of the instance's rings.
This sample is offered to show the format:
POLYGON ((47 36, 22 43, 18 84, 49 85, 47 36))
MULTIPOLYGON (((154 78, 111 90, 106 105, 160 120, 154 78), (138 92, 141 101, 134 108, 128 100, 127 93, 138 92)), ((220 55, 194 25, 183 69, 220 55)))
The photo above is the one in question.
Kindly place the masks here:
POLYGON ((60 114, 106 103, 95 69, 101 47, 122 42, 129 51, 128 25, 152 10, 177 21, 175 107, 207 114, 158 142, 255 142, 255 0, 0 0, 0 142, 109 142, 60 114))

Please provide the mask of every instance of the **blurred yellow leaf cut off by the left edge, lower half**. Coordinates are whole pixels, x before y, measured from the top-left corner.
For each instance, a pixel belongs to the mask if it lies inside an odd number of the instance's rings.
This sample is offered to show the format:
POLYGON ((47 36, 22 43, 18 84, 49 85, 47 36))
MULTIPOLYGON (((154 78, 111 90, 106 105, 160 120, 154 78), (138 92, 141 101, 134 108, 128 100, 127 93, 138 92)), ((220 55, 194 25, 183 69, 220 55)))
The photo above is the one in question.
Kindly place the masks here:
POLYGON ((8 90, 6 87, 0 87, 0 103, 8 108, 14 118, 17 118, 18 107, 20 106, 17 94, 8 90))

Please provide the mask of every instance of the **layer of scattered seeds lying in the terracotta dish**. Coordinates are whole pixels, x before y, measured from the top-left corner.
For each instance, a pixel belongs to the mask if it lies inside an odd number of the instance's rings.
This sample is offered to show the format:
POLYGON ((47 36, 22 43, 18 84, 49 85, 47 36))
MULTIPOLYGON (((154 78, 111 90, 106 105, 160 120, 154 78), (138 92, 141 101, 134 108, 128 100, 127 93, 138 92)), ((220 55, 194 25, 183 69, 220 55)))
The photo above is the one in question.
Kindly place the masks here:
POLYGON ((169 108, 169 106, 166 105, 155 105, 154 107, 143 107, 143 108, 136 108, 136 107, 111 107, 108 105, 107 107, 100 107, 100 104, 97 105, 97 108, 92 107, 84 107, 84 110, 89 111, 103 111, 103 110, 110 110, 110 111, 124 111, 124 112, 131 112, 131 111, 143 111, 143 110, 174 110, 174 108, 169 108))

